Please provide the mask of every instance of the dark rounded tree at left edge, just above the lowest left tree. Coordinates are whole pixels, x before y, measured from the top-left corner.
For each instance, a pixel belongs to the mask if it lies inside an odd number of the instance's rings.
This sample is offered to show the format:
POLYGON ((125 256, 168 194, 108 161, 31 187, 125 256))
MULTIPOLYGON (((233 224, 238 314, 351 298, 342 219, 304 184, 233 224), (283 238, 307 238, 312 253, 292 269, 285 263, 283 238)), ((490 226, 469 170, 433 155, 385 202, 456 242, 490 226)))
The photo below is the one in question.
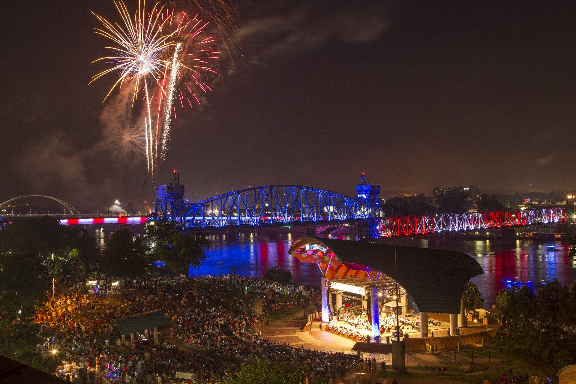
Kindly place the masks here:
POLYGON ((0 290, 16 291, 22 302, 43 298, 50 289, 48 268, 35 253, 0 254, 0 290))

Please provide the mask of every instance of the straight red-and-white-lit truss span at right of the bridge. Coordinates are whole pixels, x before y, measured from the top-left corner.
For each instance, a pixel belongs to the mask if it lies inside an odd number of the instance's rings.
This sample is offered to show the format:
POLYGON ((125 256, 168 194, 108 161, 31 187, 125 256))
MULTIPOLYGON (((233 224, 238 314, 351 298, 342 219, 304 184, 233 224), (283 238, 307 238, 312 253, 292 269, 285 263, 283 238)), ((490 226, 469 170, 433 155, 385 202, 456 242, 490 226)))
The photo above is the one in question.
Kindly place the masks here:
POLYGON ((414 236, 558 222, 566 222, 566 215, 562 208, 539 208, 446 215, 384 216, 378 221, 377 231, 381 237, 414 236))

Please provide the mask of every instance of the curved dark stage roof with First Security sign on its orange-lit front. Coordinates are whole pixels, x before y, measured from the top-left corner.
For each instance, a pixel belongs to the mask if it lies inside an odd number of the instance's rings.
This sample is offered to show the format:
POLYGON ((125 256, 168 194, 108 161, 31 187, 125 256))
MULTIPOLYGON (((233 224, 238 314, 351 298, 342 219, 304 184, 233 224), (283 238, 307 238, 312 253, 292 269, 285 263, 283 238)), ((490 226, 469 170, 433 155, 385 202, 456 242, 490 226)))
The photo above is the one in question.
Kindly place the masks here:
MULTIPOLYGON (((350 271, 395 276, 393 245, 305 236, 293 242, 289 253, 301 261, 324 265, 323 269, 338 278, 347 273, 352 276, 350 271), (321 247, 310 246, 313 244, 321 247)), ((460 313, 464 286, 472 277, 484 274, 476 260, 461 252, 397 246, 396 253, 398 283, 423 312, 460 313)))

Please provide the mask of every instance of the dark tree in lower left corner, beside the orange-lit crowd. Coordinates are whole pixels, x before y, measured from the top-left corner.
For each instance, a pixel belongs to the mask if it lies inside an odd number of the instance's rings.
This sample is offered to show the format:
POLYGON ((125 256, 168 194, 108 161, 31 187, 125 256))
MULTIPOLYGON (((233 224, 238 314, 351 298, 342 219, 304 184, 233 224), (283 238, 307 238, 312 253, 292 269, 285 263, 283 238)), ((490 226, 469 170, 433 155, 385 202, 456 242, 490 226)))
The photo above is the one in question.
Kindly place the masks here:
POLYGON ((0 355, 52 373, 58 362, 43 359, 36 349, 43 337, 34 318, 32 303, 22 302, 15 291, 0 290, 0 355))

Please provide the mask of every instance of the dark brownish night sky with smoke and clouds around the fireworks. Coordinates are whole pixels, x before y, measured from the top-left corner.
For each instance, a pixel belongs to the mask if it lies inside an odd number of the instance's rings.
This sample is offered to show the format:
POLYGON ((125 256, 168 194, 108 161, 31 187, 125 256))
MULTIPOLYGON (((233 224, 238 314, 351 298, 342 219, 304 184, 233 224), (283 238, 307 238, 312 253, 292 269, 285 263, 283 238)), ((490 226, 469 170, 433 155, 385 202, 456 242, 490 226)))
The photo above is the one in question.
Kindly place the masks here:
MULTIPOLYGON (((262 184, 351 194, 362 172, 383 191, 574 187, 574 2, 236 5, 236 67, 179 112, 154 184, 177 168, 198 199, 262 184)), ((44 193, 88 211, 138 195, 143 154, 105 133, 113 77, 88 85, 107 45, 89 10, 115 18, 111 0, 2 6, 2 201, 44 193)))

